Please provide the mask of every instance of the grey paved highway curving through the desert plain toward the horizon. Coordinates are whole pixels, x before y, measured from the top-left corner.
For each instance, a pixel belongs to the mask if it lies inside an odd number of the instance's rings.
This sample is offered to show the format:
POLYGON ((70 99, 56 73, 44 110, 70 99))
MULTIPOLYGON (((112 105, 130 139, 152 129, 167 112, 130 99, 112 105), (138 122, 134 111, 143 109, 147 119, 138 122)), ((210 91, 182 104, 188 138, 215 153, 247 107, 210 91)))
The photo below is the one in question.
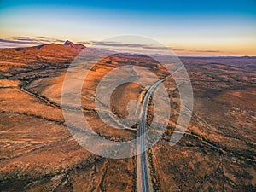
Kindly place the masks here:
POLYGON ((160 79, 159 81, 155 82, 149 89, 144 97, 143 100, 143 108, 140 113, 140 120, 139 120, 139 125, 138 125, 138 131, 137 131, 137 137, 139 137, 139 143, 138 143, 138 150, 140 150, 140 155, 137 160, 137 171, 140 174, 137 174, 137 191, 139 192, 148 192, 150 191, 149 189, 149 181, 151 181, 150 178, 148 178, 148 168, 147 168, 147 155, 146 155, 146 144, 147 144, 147 137, 146 137, 146 131, 147 131, 147 125, 146 125, 146 120, 147 120, 147 107, 148 107, 148 102, 150 96, 152 96, 154 90, 156 87, 161 84, 164 80, 166 80, 168 77, 171 75, 166 76, 164 79, 160 79))

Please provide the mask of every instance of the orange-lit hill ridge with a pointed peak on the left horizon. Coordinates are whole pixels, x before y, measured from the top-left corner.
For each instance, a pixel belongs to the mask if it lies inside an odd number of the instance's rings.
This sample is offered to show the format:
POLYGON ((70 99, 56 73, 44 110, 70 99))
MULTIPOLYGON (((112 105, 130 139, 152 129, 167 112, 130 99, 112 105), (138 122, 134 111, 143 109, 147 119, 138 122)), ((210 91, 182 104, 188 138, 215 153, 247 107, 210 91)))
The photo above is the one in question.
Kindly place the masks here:
POLYGON ((18 73, 19 70, 25 70, 26 67, 40 68, 50 65, 65 65, 72 62, 85 48, 83 44, 74 44, 67 40, 61 44, 52 43, 32 47, 0 49, 0 66, 5 66, 6 70, 9 70, 9 73, 5 73, 4 76, 8 78, 16 73, 12 71, 12 67, 20 67, 17 69, 18 73), (24 68, 22 68, 23 66, 24 68))

